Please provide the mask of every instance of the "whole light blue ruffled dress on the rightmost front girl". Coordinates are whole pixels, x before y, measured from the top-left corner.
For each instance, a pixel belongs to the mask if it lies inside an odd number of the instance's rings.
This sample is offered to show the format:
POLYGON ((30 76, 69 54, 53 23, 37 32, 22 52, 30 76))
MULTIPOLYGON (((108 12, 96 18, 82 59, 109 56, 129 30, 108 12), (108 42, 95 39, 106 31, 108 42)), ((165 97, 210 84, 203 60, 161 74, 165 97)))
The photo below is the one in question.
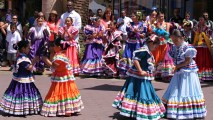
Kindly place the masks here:
POLYGON ((190 63, 180 68, 172 77, 163 95, 166 105, 166 117, 172 119, 194 119, 206 116, 204 95, 198 78, 198 68, 193 58, 197 50, 186 42, 180 47, 173 46, 170 55, 175 65, 190 57, 190 63))

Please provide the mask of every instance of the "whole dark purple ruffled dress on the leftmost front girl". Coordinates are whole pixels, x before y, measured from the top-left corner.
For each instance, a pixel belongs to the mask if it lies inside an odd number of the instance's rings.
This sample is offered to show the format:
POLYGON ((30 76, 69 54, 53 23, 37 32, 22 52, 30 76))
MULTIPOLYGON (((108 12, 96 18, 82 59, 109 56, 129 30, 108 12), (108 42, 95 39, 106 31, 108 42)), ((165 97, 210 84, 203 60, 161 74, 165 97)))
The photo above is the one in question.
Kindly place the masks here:
POLYGON ((20 53, 16 59, 13 79, 5 91, 0 110, 13 115, 39 114, 43 104, 41 94, 34 84, 31 65, 26 54, 20 53))

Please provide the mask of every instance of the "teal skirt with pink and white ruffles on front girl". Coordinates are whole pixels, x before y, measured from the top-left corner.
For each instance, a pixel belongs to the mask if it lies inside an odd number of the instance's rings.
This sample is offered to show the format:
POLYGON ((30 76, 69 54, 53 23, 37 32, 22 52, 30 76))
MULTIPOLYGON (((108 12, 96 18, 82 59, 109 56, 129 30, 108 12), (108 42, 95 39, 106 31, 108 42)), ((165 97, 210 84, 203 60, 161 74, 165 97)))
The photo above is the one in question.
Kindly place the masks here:
POLYGON ((127 78, 112 106, 120 109, 121 115, 137 120, 157 120, 166 111, 151 81, 134 77, 127 78))

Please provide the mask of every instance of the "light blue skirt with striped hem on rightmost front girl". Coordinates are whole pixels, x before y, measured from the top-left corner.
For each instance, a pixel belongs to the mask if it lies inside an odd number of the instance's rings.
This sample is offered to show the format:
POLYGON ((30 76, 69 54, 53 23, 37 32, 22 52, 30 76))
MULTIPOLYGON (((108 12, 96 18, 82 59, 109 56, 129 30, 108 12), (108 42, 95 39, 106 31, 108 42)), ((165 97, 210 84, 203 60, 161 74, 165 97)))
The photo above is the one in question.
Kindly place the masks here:
POLYGON ((194 119, 206 116, 206 105, 197 72, 176 73, 165 94, 167 118, 194 119))

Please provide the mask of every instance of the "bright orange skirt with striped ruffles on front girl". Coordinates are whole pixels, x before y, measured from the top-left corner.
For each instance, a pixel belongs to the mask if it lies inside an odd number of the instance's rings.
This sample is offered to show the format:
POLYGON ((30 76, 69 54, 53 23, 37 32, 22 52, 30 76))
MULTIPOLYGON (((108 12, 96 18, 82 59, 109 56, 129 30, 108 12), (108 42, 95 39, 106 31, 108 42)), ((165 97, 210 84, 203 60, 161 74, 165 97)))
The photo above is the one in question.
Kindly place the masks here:
POLYGON ((57 116, 80 112, 84 108, 75 81, 52 82, 41 115, 57 116))

